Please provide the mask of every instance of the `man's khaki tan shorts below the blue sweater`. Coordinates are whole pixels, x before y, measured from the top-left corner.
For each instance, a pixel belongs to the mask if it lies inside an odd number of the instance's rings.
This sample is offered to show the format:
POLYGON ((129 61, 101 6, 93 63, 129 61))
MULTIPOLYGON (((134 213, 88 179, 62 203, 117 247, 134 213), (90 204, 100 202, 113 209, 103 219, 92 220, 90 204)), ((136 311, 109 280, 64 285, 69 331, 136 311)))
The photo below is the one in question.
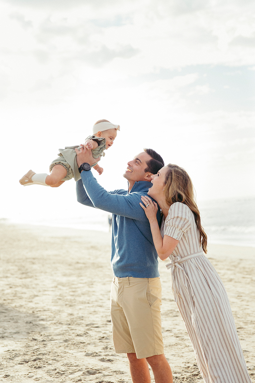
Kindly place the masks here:
POLYGON ((135 352, 138 359, 164 354, 159 278, 112 280, 112 337, 116 354, 135 352))

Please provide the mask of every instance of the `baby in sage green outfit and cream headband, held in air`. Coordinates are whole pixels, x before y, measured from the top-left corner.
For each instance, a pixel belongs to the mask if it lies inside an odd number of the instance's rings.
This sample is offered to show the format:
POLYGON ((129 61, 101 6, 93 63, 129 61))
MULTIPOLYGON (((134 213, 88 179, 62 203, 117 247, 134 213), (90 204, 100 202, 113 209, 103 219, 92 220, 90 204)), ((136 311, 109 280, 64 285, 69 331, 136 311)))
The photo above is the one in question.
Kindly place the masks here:
MULTIPOLYGON (((94 124, 93 135, 86 138, 84 146, 91 150, 93 158, 104 157, 104 150, 112 146, 118 130, 120 130, 119 125, 114 125, 106 119, 101 119, 94 124)), ((58 187, 71 178, 74 178, 75 181, 80 180, 81 175, 76 162, 77 155, 75 148, 79 150, 80 146, 66 146, 65 149, 58 149, 60 151, 58 158, 50 164, 50 175, 35 173, 29 170, 19 180, 19 183, 23 186, 44 185, 58 187)), ((103 169, 97 164, 98 161, 91 165, 91 167, 94 167, 99 174, 102 174, 103 169)))

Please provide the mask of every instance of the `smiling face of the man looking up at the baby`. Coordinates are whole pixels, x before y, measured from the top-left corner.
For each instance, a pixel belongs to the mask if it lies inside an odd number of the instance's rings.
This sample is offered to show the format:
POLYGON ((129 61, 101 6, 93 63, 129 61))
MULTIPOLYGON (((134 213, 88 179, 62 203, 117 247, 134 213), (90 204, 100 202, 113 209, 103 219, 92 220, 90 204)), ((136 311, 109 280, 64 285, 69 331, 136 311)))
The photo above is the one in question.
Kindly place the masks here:
POLYGON ((151 160, 151 156, 146 152, 141 152, 134 157, 132 161, 128 161, 127 170, 123 174, 123 177, 128 181, 150 181, 146 179, 145 169, 147 167, 146 162, 151 160))

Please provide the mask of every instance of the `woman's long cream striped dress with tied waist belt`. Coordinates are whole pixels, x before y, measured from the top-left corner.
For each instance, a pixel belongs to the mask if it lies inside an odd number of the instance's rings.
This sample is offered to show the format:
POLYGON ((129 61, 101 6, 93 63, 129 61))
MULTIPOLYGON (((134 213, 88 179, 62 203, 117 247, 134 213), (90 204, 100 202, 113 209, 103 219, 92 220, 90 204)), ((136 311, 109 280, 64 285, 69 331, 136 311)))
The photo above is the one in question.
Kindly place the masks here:
POLYGON ((187 205, 171 205, 161 235, 179 241, 167 268, 172 291, 206 383, 250 383, 224 285, 203 254, 187 205))

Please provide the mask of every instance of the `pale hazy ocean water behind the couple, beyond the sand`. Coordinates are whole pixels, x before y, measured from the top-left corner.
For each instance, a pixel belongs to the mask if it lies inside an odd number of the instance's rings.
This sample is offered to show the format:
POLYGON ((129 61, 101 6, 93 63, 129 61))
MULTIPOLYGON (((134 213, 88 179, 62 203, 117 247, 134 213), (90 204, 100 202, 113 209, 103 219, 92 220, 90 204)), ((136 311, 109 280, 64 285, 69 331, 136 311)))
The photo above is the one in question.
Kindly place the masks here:
MULTIPOLYGON (((49 200, 40 206, 26 206, 19 213, 5 214, 2 222, 63 227, 93 231, 110 231, 111 214, 78 204, 75 200, 49 200), (24 213, 26 212, 26 213, 24 213)), ((139 208, 139 207, 138 207, 139 208)), ((198 201, 201 222, 208 243, 255 247, 255 197, 222 198, 198 201)))

